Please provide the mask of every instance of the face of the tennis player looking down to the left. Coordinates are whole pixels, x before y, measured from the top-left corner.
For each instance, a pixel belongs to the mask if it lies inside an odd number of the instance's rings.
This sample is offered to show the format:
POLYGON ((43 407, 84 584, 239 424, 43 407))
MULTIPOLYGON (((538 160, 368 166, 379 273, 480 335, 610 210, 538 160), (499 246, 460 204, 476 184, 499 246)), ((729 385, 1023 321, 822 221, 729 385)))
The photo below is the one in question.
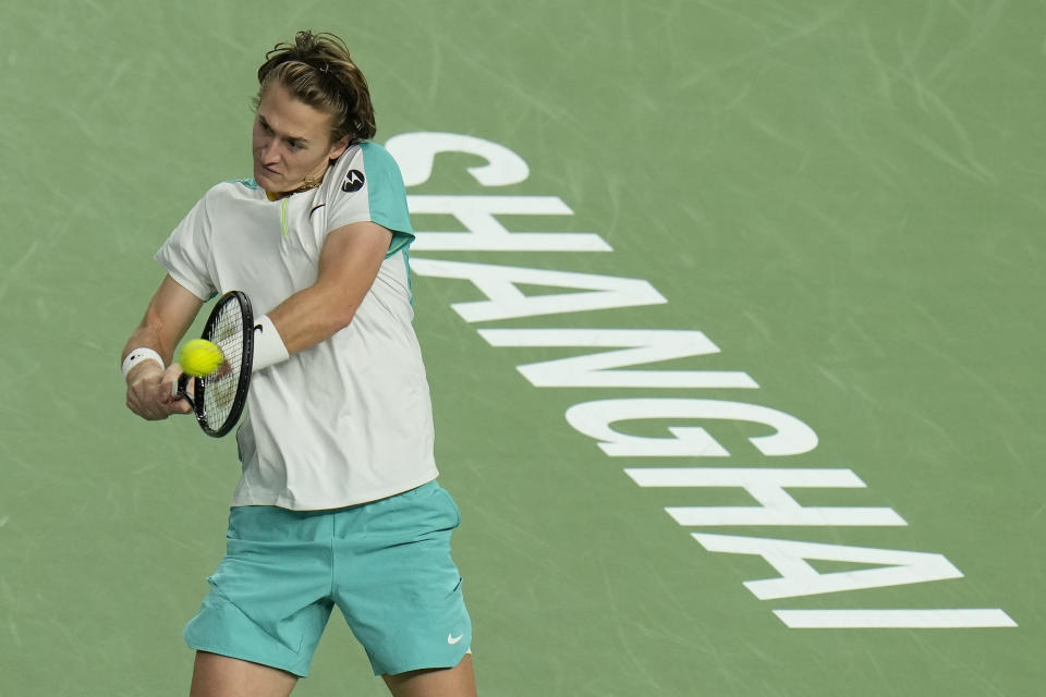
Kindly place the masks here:
POLYGON ((319 181, 346 143, 330 143, 330 115, 295 99, 283 85, 266 88, 254 119, 254 179, 265 191, 292 192, 319 181))

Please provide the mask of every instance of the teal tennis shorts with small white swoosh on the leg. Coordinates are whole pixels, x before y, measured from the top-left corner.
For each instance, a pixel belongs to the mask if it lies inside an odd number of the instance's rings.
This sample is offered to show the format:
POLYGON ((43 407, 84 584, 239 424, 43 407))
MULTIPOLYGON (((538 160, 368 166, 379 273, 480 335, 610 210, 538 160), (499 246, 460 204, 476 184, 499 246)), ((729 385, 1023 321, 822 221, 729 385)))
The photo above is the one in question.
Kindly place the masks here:
POLYGON ((240 506, 190 648, 302 677, 335 606, 375 675, 457 665, 472 644, 450 558, 458 505, 435 481, 330 511, 240 506))

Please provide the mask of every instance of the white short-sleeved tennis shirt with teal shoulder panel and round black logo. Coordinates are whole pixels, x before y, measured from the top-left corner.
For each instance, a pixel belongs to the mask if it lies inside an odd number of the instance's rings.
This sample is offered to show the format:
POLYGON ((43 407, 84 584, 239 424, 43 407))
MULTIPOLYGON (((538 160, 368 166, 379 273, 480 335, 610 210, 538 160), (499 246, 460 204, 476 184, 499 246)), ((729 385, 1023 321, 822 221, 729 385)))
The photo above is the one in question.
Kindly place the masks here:
POLYGON ((156 255, 196 296, 244 291, 260 316, 316 282, 328 233, 365 220, 393 240, 352 323, 253 376, 236 433, 243 476, 234 506, 333 509, 436 478, 431 401, 412 326, 403 180, 381 146, 363 143, 319 187, 280 200, 253 180, 218 184, 156 255))

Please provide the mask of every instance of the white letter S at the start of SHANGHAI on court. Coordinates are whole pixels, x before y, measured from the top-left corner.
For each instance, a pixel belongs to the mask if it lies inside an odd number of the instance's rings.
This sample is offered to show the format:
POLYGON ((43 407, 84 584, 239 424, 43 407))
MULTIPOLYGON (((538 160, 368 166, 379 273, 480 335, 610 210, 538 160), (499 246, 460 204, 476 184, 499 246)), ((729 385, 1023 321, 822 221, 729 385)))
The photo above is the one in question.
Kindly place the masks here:
POLYGON ((433 175, 433 163, 440 152, 478 155, 487 164, 470 167, 469 173, 484 186, 508 186, 526 181, 531 169, 519 155, 497 143, 458 133, 419 131, 392 136, 385 149, 396 159, 403 184, 417 186, 433 175))

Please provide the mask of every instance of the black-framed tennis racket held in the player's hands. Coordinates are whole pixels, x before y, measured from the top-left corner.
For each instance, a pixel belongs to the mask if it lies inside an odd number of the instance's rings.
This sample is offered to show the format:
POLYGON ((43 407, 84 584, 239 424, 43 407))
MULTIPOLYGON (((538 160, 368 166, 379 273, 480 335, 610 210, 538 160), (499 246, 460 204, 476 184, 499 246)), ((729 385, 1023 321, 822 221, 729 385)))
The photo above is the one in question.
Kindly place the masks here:
POLYGON ((224 363, 215 372, 193 379, 178 379, 178 396, 193 407, 204 432, 221 438, 236 425, 247 402, 254 362, 254 313, 251 299, 241 291, 222 295, 204 325, 203 339, 221 348, 224 363))

